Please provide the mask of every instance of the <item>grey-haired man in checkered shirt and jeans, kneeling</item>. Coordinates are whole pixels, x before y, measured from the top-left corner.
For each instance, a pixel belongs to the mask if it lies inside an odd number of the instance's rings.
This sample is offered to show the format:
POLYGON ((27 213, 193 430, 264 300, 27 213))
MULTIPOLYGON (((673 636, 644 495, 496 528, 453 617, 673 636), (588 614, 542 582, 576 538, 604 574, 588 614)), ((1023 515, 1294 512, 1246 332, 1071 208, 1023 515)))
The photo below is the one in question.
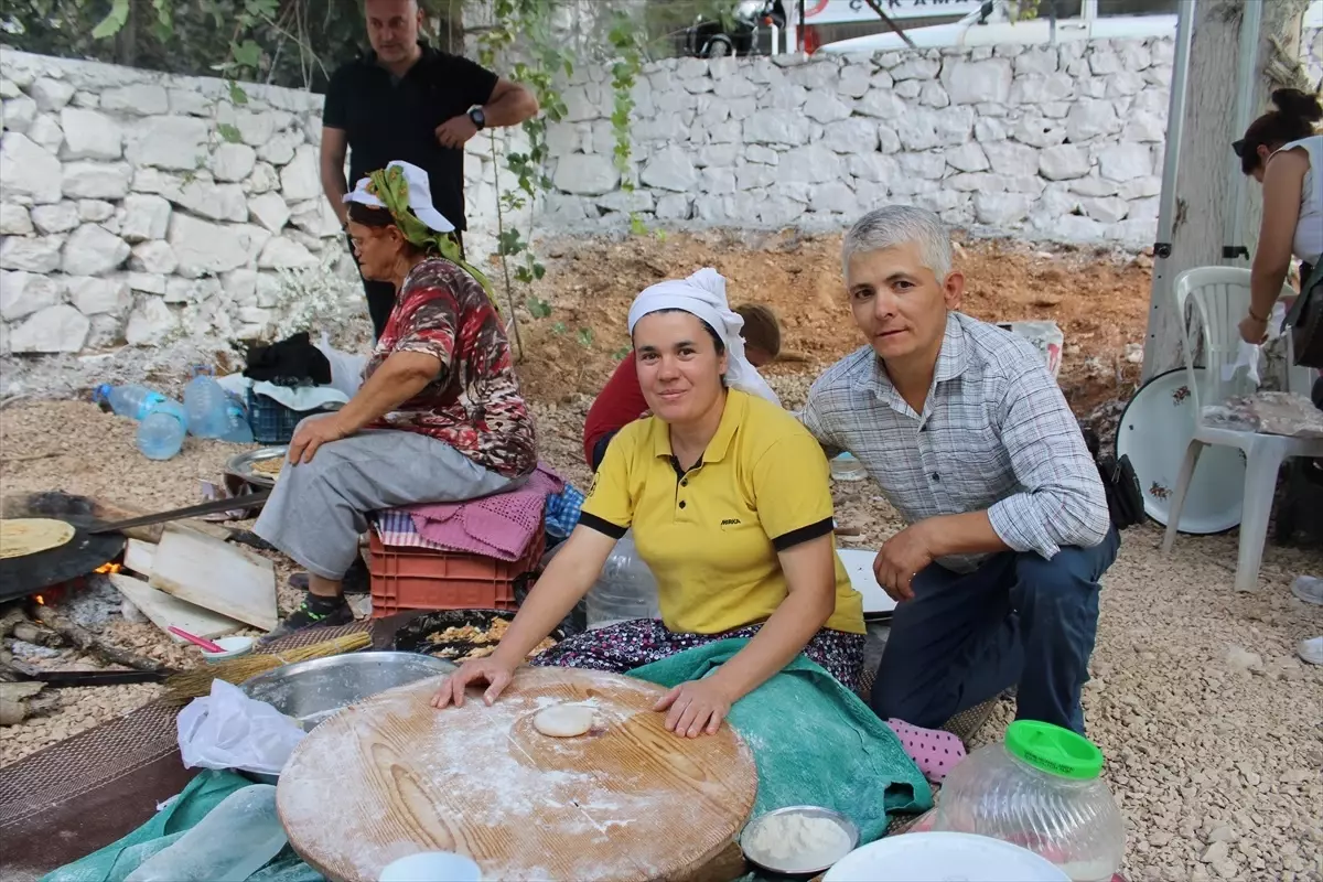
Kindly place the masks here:
POLYGON ((1017 685, 1017 717, 1084 733, 1098 579, 1121 540, 1078 423, 1033 346, 958 312, 937 216, 875 210, 841 258, 868 345, 818 378, 800 419, 908 524, 873 563, 897 600, 873 710, 935 727, 1017 685))

